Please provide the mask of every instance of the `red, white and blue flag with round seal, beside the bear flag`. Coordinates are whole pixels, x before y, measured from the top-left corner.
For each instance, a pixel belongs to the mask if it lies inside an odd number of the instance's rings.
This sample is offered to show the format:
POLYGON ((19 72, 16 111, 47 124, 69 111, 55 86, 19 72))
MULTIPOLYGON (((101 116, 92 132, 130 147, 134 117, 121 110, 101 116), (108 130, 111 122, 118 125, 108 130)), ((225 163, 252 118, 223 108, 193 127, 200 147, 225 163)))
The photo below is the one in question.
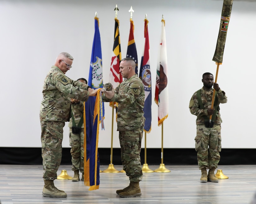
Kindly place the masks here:
POLYGON ((141 67, 139 77, 142 80, 145 90, 145 103, 144 103, 144 117, 145 125, 144 131, 150 133, 151 131, 151 72, 150 72, 150 62, 149 62, 149 38, 148 38, 148 20, 145 19, 144 27, 144 37, 145 37, 145 47, 143 50, 143 55, 141 57, 141 67))

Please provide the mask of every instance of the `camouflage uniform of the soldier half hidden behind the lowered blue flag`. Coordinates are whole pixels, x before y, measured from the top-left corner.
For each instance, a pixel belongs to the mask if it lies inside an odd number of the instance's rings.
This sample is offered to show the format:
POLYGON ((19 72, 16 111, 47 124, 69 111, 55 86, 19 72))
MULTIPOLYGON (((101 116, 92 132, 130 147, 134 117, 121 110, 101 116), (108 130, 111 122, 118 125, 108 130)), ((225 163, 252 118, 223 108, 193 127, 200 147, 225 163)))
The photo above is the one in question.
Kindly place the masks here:
MULTIPOLYGON (((79 101, 77 103, 71 103, 71 111, 74 115, 74 122, 77 126, 80 119, 83 117, 83 102, 79 101)), ((71 146, 71 156, 72 156, 72 170, 80 170, 83 173, 84 168, 84 147, 83 147, 83 140, 84 140, 84 127, 82 124, 82 129, 80 134, 72 133, 72 126, 73 126, 73 119, 70 118, 69 121, 69 143, 71 146)))

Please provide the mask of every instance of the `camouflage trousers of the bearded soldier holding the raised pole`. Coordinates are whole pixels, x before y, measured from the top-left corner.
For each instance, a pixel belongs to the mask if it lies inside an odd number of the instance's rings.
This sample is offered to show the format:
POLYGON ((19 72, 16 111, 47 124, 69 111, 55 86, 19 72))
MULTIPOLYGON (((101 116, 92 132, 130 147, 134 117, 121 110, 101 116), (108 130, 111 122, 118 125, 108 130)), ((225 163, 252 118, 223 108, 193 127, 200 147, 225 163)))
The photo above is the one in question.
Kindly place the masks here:
POLYGON ((196 126, 195 150, 199 169, 218 167, 221 151, 220 130, 221 125, 213 125, 213 128, 196 126))

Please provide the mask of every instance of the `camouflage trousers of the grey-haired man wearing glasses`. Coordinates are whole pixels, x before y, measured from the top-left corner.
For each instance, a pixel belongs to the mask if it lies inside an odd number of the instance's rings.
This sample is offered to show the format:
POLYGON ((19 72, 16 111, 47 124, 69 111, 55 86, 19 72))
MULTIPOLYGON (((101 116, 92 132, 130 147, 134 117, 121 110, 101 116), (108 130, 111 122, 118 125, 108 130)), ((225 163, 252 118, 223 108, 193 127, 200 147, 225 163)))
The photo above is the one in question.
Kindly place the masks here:
POLYGON ((61 164, 63 127, 65 122, 41 121, 43 179, 54 180, 61 164))

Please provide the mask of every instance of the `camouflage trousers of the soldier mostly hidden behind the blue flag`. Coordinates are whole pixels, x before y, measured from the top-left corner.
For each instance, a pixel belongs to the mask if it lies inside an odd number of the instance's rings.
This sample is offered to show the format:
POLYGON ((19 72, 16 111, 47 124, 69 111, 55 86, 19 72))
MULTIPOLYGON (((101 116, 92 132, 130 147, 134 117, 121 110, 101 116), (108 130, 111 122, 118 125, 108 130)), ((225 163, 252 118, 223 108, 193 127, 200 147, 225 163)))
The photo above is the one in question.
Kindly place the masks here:
POLYGON ((72 161, 72 170, 80 170, 84 172, 84 128, 82 128, 80 134, 72 133, 72 128, 69 129, 69 145, 71 146, 70 154, 72 161))

